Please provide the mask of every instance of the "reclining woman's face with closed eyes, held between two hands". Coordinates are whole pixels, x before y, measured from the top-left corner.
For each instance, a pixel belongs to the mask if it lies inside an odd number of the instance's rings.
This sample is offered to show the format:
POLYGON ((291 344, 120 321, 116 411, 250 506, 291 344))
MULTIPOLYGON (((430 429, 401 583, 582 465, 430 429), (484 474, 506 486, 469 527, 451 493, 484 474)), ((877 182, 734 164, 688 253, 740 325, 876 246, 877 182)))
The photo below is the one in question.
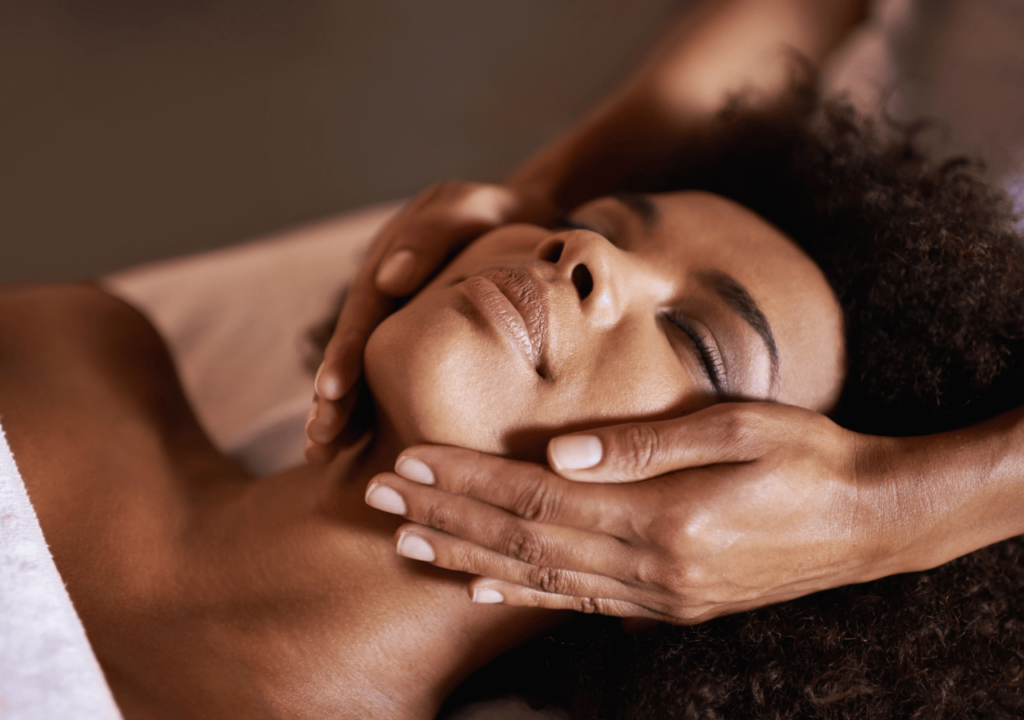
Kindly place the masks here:
POLYGON ((686 192, 570 219, 488 232, 374 333, 367 376, 404 442, 543 458, 559 432, 729 398, 836 403, 842 312, 761 217, 686 192))

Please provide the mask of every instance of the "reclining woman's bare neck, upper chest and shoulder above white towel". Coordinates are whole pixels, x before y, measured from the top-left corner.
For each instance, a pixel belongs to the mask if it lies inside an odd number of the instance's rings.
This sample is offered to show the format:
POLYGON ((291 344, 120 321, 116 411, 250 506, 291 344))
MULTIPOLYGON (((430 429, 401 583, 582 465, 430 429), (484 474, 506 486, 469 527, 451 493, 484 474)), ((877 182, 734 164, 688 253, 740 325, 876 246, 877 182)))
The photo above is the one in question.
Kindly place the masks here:
POLYGON ((461 578, 394 553, 398 522, 362 496, 413 437, 382 431, 364 454, 247 475, 200 428, 154 328, 95 287, 0 288, 0 387, 29 497, 127 720, 426 720, 557 620, 467 607, 461 578))

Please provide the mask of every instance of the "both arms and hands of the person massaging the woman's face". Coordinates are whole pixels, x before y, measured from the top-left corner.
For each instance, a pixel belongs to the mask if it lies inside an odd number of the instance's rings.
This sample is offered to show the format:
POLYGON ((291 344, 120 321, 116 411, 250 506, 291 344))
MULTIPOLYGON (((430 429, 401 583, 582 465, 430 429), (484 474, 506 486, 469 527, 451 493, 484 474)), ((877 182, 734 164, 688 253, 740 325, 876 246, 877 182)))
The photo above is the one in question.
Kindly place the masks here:
MULTIPOLYGON (((866 5, 696 5, 622 88, 508 186, 449 182, 414 201, 381 232, 352 286, 317 375, 307 457, 336 452, 365 338, 391 298, 412 293, 473 228, 550 221, 556 208, 671 155, 730 92, 770 101, 791 69, 780 48, 817 63, 866 5)), ((407 499, 406 516, 421 524, 401 533, 428 538, 438 564, 481 576, 470 586, 477 600, 694 623, 933 567, 1024 532, 1024 409, 942 435, 882 438, 819 414, 743 403, 587 438, 553 440, 547 466, 408 450, 397 469, 419 482, 389 481, 407 499), (622 482, 630 484, 592 484, 622 482), (825 510, 835 521, 821 521, 825 510), (648 518, 633 528, 632 542, 646 548, 636 564, 646 568, 642 577, 600 551, 607 535, 596 518, 606 512, 624 522, 648 518)))

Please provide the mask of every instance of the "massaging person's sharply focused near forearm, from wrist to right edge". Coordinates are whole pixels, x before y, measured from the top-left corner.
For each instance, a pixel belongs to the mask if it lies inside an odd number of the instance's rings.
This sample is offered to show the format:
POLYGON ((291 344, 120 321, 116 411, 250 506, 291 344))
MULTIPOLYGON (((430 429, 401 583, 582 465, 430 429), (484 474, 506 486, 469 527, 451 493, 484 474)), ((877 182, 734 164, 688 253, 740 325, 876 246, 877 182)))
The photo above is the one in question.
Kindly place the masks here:
MULTIPOLYGON (((935 567, 1024 534, 1024 408, 978 425, 895 439, 867 464, 891 571, 935 567)), ((888 573, 886 573, 888 574, 888 573)))

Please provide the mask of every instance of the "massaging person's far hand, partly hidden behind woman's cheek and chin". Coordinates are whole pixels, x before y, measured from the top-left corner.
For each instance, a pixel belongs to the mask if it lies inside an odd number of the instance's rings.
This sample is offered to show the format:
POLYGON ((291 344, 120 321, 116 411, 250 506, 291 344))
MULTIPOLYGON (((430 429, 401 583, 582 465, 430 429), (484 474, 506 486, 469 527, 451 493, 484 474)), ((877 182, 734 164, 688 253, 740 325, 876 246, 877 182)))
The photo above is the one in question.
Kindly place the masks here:
POLYGON ((306 420, 306 459, 324 462, 335 454, 356 396, 362 351, 374 329, 453 254, 479 235, 508 222, 545 222, 553 210, 525 185, 449 180, 412 200, 377 235, 352 281, 334 335, 316 373, 316 396, 306 420))

